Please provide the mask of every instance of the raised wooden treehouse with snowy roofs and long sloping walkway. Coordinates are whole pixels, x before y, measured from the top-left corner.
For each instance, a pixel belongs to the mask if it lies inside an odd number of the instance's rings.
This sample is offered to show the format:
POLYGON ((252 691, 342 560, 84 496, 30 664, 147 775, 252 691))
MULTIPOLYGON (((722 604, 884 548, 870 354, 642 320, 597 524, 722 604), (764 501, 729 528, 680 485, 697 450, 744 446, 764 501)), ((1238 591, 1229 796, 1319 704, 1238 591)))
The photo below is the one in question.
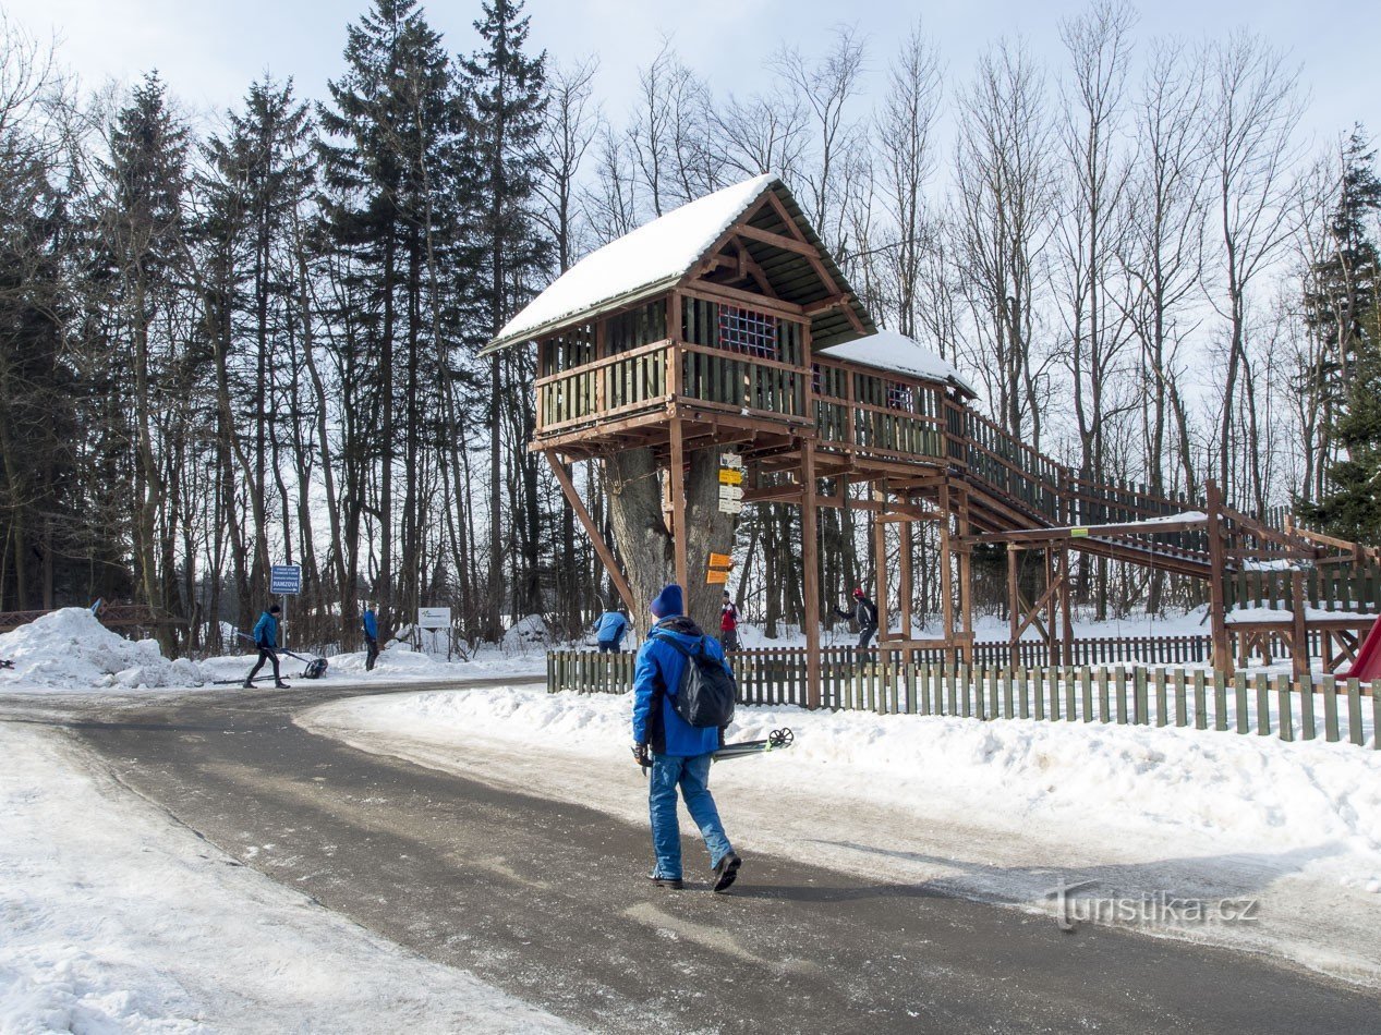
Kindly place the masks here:
MULTIPOLYGON (((772 175, 592 253, 486 352, 532 344, 530 448, 551 462, 631 614, 646 602, 632 599, 617 544, 603 541, 563 465, 649 447, 666 472, 682 585, 704 580, 708 564, 688 556, 684 472, 695 451, 742 458, 743 502, 801 508, 809 615, 822 614, 818 508, 871 511, 877 556, 887 556, 891 537, 902 545, 895 571, 877 564, 884 650, 942 649, 949 664, 972 661, 971 552, 981 542, 1007 548, 1014 664, 1030 629, 1051 664, 1069 664, 1074 551, 1207 580, 1214 667, 1226 672, 1236 656, 1272 643, 1295 656, 1298 671, 1320 636, 1329 660, 1346 657, 1371 624, 1377 558, 1353 544, 1266 527, 1224 506, 1213 486, 1206 500, 1188 501, 1087 482, 1004 433, 971 406, 975 392, 949 363, 877 328, 772 175), (866 498, 851 486, 866 486, 866 498), (942 635, 934 639, 911 632, 916 522, 935 523, 940 545, 942 635), (1033 555, 1041 589, 1029 600, 1018 563, 1033 555), (1330 573, 1341 575, 1330 582, 1330 573), (1255 604, 1250 618, 1243 611, 1235 622, 1233 609, 1247 604, 1255 604)), ((818 702, 819 625, 805 625, 807 700, 818 702)))

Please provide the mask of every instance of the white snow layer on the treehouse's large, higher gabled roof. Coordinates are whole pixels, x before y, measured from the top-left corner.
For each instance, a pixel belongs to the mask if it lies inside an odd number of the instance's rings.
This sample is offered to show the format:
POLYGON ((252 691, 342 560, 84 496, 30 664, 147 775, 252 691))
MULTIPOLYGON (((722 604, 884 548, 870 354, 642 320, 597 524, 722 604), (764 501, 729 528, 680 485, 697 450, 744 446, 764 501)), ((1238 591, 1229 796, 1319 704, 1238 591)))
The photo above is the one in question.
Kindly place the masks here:
POLYGON ((486 352, 536 338, 610 304, 666 290, 776 182, 771 172, 744 179, 590 253, 505 323, 486 352))

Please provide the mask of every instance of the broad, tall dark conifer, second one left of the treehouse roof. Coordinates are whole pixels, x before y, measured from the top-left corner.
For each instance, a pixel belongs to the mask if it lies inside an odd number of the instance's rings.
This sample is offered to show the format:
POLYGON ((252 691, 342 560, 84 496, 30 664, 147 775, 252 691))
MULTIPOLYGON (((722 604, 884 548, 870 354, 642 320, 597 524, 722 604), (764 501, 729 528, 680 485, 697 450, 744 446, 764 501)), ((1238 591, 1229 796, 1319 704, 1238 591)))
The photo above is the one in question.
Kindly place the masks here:
MULTIPOLYGON (((414 0, 376 0, 348 29, 348 70, 329 83, 319 108, 325 214, 341 266, 341 320, 351 355, 338 359, 349 421, 341 455, 344 538, 349 555, 344 620, 354 628, 362 518, 377 516, 374 595, 380 620, 420 603, 423 537, 431 522, 420 484, 428 436, 439 433, 436 385, 454 337, 453 309, 439 284, 464 276, 460 134, 454 68, 414 0), (436 338, 442 337, 443 341, 436 338), (377 486, 363 473, 377 466, 377 486), (395 513, 395 466, 403 476, 395 513), (402 548, 395 563, 395 538, 402 548), (396 569, 396 575, 395 575, 396 569)), ((436 444, 436 443, 432 443, 436 444)))

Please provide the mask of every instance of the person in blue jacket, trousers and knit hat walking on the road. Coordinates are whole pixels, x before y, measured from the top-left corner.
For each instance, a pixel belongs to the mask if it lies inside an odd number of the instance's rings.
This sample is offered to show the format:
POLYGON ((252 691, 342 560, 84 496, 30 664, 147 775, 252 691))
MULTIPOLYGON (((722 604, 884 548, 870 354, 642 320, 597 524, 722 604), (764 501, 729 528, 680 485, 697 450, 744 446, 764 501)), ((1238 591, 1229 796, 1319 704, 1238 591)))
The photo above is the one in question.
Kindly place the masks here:
POLYGON ((648 792, 652 814, 652 847, 657 867, 652 880, 659 887, 679 889, 681 880, 681 824, 677 820, 677 788, 685 799, 686 811, 700 828, 704 846, 710 850, 714 869, 714 890, 724 891, 739 875, 740 860, 729 845, 720 821, 720 810, 710 795, 710 756, 720 748, 722 730, 696 729, 677 715, 670 698, 681 686, 681 672, 686 657, 667 640, 674 639, 689 650, 702 643, 706 653, 725 668, 720 644, 707 638, 700 627, 688 618, 681 586, 668 585, 652 602, 657 624, 638 651, 632 675, 632 741, 641 765, 650 753, 652 780, 648 792))

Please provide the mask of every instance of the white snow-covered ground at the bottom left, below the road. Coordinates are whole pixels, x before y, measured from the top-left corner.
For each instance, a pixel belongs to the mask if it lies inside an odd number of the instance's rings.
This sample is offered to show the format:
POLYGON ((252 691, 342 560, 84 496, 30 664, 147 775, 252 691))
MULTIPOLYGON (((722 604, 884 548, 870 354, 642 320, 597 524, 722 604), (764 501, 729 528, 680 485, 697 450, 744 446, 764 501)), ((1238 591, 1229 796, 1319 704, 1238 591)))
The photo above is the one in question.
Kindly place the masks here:
POLYGON ((0 1032, 569 1031, 0 723, 0 1032))

